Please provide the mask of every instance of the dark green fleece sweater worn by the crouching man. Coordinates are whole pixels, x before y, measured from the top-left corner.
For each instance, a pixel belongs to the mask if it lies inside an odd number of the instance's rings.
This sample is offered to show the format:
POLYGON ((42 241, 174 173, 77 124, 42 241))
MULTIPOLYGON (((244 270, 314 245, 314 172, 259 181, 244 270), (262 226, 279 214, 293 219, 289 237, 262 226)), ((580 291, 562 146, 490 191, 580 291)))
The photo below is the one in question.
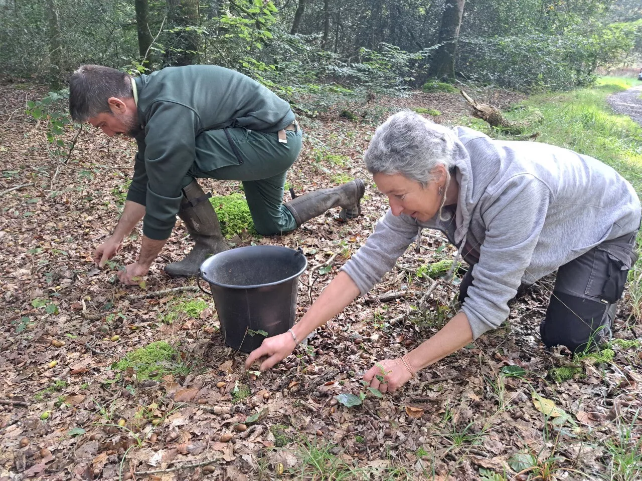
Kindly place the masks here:
POLYGON ((127 199, 146 207, 143 233, 168 239, 205 130, 245 127, 276 132, 294 121, 290 105, 251 78, 215 65, 166 67, 135 79, 138 153, 127 199))

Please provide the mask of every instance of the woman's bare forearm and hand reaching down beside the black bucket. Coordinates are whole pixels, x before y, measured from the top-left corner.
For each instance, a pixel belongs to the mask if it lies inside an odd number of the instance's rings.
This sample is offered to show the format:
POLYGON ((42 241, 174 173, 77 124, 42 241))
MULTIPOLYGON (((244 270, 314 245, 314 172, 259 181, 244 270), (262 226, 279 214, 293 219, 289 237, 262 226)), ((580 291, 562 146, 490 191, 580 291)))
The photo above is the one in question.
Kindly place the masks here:
MULTIPOLYGON (((324 325, 329 319, 339 314, 359 294, 359 288, 345 272, 340 272, 330 282, 312 304, 305 316, 292 328, 298 341, 302 341, 319 326, 324 325)), ((261 363, 261 371, 270 369, 277 362, 285 359, 297 347, 291 333, 285 332, 263 340, 261 347, 250 353, 245 361, 245 368, 249 369, 255 360, 267 357, 261 363)))

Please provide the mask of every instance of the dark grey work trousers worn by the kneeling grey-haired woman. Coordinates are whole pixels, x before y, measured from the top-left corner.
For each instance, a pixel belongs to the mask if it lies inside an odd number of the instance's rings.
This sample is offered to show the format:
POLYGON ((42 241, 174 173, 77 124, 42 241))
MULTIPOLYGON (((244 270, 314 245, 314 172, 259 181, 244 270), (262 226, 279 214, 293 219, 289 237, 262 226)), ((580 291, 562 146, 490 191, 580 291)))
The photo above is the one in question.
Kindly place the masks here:
MULTIPOLYGON (((638 260, 636 234, 602 242, 557 269, 546 317, 539 326, 546 346, 562 345, 577 352, 611 337, 613 317, 627 274, 638 260)), ((460 301, 465 300, 473 282, 471 266, 459 286, 460 301)), ((527 288, 522 285, 517 295, 527 288)))

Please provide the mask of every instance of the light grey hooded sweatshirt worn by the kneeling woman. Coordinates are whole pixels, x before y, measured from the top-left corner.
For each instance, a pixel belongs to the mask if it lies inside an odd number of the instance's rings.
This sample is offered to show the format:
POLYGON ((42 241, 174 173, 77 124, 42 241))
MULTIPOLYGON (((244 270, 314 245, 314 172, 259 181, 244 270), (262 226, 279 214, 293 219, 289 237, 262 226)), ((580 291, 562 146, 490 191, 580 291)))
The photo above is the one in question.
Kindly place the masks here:
MULTIPOLYGON (((478 262, 462 305, 476 339, 508 317, 508 301, 604 241, 635 232, 640 201, 608 165, 539 142, 493 140, 455 127, 458 202, 427 222, 390 210, 342 267, 361 295, 394 267, 420 228, 446 232, 478 262)), ((631 259, 621 259, 630 267, 631 259)))

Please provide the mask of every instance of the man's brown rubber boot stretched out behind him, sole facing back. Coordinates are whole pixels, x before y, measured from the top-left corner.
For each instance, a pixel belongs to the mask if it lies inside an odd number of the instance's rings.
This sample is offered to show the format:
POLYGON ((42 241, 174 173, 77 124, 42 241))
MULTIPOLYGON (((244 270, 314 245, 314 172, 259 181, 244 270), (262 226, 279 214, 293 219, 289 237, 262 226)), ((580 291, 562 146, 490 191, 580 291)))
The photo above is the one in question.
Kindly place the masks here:
POLYGON ((333 207, 342 207, 339 217, 343 220, 354 219, 361 214, 361 198, 365 193, 363 180, 354 179, 339 187, 315 190, 304 196, 297 197, 285 203, 297 221, 297 227, 302 223, 323 214, 333 207))

